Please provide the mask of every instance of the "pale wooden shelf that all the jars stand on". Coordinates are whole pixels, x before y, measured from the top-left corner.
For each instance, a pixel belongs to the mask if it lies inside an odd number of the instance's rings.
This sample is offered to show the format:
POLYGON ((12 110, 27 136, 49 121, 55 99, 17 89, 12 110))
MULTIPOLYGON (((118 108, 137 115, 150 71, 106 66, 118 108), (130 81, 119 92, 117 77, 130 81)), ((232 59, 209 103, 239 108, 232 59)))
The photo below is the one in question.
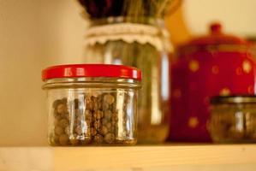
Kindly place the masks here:
POLYGON ((256 170, 256 144, 0 147, 0 171, 256 170))

